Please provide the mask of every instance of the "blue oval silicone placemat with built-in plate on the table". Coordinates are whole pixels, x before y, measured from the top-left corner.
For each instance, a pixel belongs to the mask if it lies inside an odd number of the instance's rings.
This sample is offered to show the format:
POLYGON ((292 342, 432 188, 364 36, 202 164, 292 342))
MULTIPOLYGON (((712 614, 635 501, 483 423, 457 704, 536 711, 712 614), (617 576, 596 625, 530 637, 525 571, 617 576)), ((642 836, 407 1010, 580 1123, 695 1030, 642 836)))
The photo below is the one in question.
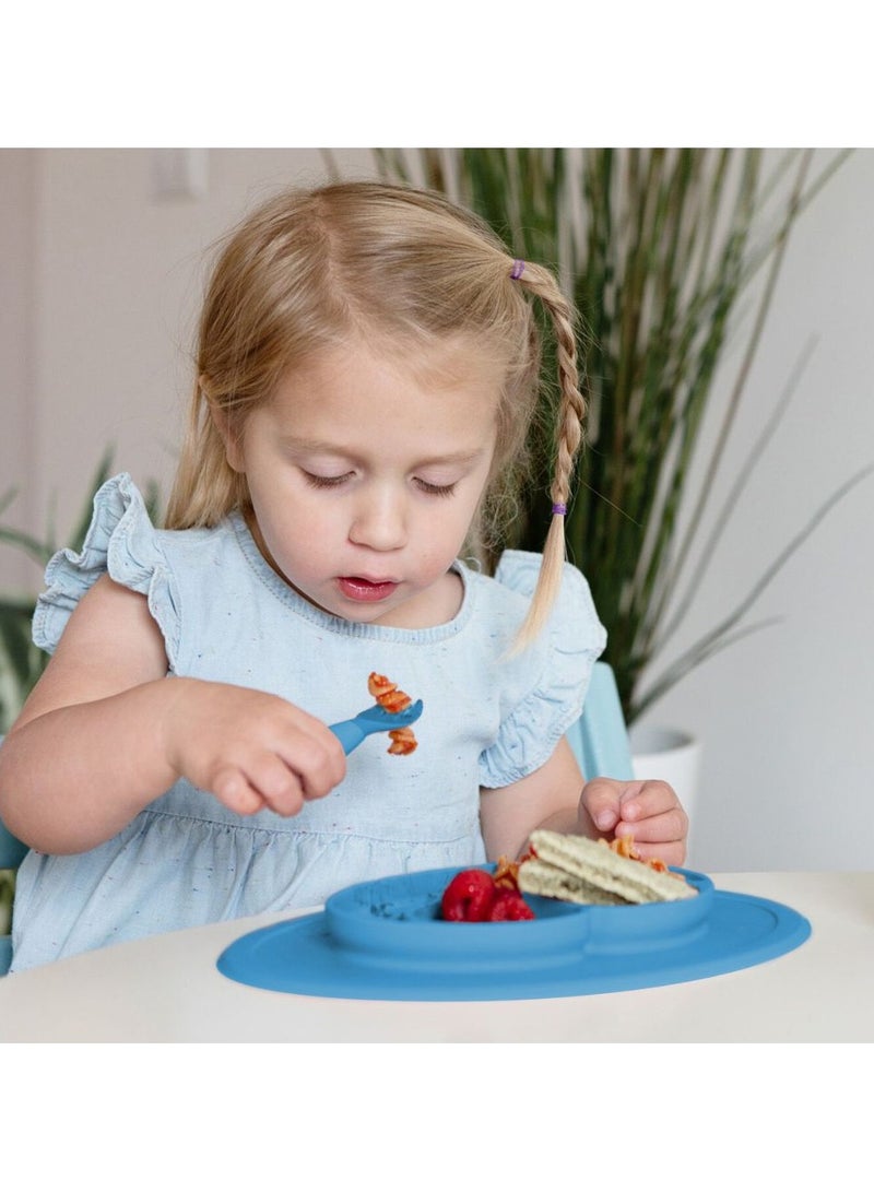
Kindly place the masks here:
MULTIPOLYGON (((483 867, 486 868, 486 867, 483 867)), ((249 932, 218 958, 243 985, 322 998, 500 1001, 577 997, 731 973, 792 951, 811 925, 780 902, 714 889, 646 906, 574 906, 526 895, 537 918, 445 923, 457 869, 432 869, 334 894, 324 911, 249 932)))

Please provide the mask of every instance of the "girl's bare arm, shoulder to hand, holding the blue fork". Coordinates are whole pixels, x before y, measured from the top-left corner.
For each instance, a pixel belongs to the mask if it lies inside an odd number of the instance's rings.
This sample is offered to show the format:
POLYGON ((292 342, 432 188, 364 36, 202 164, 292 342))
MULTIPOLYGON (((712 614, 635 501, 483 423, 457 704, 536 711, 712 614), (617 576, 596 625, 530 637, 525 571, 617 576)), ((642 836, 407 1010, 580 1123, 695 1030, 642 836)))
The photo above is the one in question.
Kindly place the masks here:
POLYGON ((340 743, 277 696, 168 678, 144 596, 80 601, 0 749, 0 817, 44 852, 110 839, 180 776, 240 814, 295 814, 345 774, 340 743))

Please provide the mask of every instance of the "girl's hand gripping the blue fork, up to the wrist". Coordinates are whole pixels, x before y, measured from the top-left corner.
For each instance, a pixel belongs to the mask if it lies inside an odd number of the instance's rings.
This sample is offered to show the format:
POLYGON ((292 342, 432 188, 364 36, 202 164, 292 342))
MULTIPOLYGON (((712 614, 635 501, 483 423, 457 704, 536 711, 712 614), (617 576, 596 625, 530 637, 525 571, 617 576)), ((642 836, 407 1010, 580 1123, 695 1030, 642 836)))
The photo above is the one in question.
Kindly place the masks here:
POLYGON ((240 815, 297 815, 346 774, 340 741, 321 720, 266 691, 167 679, 162 733, 178 775, 240 815))

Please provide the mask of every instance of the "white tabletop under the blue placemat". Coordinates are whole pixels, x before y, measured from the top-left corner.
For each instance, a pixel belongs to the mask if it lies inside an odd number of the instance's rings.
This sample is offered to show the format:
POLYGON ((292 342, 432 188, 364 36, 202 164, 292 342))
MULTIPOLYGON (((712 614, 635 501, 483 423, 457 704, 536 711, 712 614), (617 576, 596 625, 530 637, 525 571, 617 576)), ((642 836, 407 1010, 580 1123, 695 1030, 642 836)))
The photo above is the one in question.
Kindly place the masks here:
POLYGON ((531 1001, 355 1001, 273 993, 222 976, 231 940, 287 915, 154 936, 0 979, 0 1042, 874 1041, 874 873, 712 875, 785 902, 811 938, 723 976, 531 1001))

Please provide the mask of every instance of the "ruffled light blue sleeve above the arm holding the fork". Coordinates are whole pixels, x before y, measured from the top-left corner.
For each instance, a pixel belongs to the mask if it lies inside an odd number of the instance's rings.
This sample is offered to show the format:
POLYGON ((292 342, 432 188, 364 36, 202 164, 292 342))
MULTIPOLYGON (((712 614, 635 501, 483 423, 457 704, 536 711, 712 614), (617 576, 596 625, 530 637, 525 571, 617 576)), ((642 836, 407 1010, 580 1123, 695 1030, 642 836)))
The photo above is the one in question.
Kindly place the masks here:
POLYGON ((94 496, 94 513, 79 554, 58 551, 45 569, 45 591, 33 614, 33 641, 52 653, 82 596, 100 576, 141 592, 165 639, 171 669, 179 651, 179 608, 174 579, 142 493, 126 472, 94 496))

